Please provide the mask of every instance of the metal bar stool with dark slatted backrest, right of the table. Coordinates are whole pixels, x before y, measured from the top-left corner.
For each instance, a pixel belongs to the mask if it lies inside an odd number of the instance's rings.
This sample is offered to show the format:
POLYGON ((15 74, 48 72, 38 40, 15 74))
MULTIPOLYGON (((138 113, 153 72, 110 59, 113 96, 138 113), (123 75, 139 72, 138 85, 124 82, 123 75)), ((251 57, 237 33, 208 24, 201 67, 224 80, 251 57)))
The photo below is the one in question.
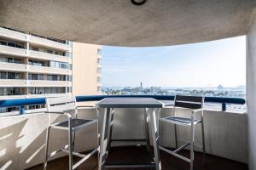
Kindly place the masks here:
POLYGON ((195 125, 201 123, 201 136, 202 136, 202 151, 203 151, 203 161, 205 163, 205 135, 204 135, 204 121, 203 121, 203 104, 204 98, 200 96, 182 96, 176 95, 174 99, 174 106, 172 109, 172 116, 167 116, 160 118, 160 122, 169 122, 174 124, 174 131, 175 131, 175 144, 176 150, 168 150, 163 146, 160 146, 160 150, 166 151, 173 156, 177 156, 184 161, 188 161, 190 163, 190 170, 193 170, 193 161, 194 161, 194 138, 195 138, 195 125), (185 108, 191 110, 191 117, 184 117, 184 116, 176 116, 176 108, 185 108), (195 113, 201 112, 200 118, 195 118, 195 113), (183 127, 190 127, 190 142, 187 144, 183 144, 178 148, 177 143, 177 126, 183 127), (179 150, 190 145, 190 159, 177 154, 179 150))

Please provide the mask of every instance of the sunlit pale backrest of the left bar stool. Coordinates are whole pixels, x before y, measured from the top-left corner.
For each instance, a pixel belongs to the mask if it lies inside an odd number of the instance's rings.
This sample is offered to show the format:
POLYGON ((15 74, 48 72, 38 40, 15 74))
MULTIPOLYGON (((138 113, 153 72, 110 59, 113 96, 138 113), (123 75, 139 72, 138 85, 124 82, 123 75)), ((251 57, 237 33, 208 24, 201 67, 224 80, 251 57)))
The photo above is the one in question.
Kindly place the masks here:
POLYGON ((74 96, 47 98, 46 107, 49 112, 75 110, 77 107, 76 98, 74 96))

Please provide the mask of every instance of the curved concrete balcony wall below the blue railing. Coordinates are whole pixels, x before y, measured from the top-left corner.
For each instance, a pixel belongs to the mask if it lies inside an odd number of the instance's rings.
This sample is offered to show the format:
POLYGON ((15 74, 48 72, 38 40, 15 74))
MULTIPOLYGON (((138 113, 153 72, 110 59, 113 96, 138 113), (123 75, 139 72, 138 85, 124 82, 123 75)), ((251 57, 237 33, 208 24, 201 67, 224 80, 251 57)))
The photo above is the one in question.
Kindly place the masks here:
MULTIPOLYGON (((143 138, 143 112, 143 109, 116 109, 113 139, 143 138)), ((166 108, 161 111, 161 116, 171 113, 172 109, 166 108)), ((177 114, 183 113, 178 111, 177 114)), ((95 117, 96 110, 80 110, 79 115, 95 117)), ((61 119, 61 116, 52 116, 51 122, 61 119)), ((44 113, 1 117, 0 169, 25 169, 43 162, 45 128, 48 124, 49 116, 44 113)), ((247 162, 247 114, 205 111, 205 124, 207 153, 247 162)), ((172 125, 163 122, 160 127, 161 143, 173 147, 172 125)), ((196 127, 195 146, 201 144, 200 130, 200 126, 196 127)), ((77 135, 75 150, 91 150, 96 147, 96 124, 79 131, 77 135)), ((50 150, 56 150, 67 141, 67 133, 60 130, 52 131, 50 136, 50 150)), ((189 129, 179 128, 178 136, 180 143, 189 139, 189 129)))

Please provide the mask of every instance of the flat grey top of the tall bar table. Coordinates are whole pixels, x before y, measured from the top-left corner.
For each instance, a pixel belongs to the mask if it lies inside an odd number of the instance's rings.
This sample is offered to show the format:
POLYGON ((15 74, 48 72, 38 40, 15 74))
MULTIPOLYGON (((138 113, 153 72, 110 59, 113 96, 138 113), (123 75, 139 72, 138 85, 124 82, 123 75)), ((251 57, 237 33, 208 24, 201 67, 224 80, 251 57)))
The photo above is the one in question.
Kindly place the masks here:
POLYGON ((153 98, 105 98, 96 103, 98 108, 163 108, 165 104, 153 98))

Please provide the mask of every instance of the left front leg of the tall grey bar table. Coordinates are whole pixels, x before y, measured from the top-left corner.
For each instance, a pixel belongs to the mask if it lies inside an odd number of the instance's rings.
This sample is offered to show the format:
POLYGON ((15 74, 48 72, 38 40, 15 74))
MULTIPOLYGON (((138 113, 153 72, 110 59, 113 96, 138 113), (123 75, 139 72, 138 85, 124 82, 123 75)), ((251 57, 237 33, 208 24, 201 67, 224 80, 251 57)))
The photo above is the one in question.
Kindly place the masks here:
POLYGON ((108 146, 108 128, 110 119, 110 108, 106 108, 103 115, 103 126, 101 134, 101 146, 100 146, 100 160, 99 160, 99 170, 102 170, 104 163, 107 159, 107 146, 108 146))

